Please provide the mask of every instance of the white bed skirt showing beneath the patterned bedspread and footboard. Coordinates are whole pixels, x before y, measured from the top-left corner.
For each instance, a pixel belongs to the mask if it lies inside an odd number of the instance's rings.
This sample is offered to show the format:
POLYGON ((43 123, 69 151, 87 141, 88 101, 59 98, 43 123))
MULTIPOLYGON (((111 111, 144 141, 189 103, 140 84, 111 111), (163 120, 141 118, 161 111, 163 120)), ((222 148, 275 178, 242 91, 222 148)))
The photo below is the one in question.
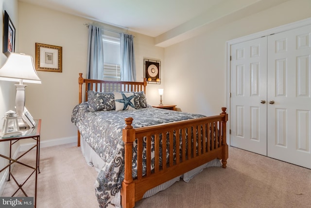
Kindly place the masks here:
MULTIPOLYGON (((89 166, 93 166, 97 172, 99 172, 102 167, 104 166, 104 161, 101 159, 100 156, 86 143, 86 141, 82 138, 81 136, 81 151, 83 156, 86 159, 86 163, 89 166)), ((185 182, 189 182, 195 175, 199 174, 203 169, 209 168, 209 167, 221 167, 222 163, 219 159, 214 159, 200 167, 197 167, 193 170, 190 170, 189 172, 184 173, 183 175, 177 176, 176 178, 173 178, 170 181, 167 181, 153 189, 148 190, 143 198, 147 198, 150 196, 155 195, 157 192, 161 190, 165 190, 172 186, 176 181, 179 181, 181 178, 185 182)), ((118 192, 116 193, 116 196, 114 199, 111 201, 111 204, 114 204, 116 208, 121 208, 121 193, 118 192)))

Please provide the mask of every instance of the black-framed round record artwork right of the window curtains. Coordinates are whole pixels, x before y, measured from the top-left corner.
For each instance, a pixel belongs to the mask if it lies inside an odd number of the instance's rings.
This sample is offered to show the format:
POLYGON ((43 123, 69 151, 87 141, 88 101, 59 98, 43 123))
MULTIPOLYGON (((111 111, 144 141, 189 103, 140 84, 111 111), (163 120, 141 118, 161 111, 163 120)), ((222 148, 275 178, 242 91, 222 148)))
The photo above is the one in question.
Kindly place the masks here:
POLYGON ((144 59, 144 69, 148 83, 161 84, 161 61, 144 59))

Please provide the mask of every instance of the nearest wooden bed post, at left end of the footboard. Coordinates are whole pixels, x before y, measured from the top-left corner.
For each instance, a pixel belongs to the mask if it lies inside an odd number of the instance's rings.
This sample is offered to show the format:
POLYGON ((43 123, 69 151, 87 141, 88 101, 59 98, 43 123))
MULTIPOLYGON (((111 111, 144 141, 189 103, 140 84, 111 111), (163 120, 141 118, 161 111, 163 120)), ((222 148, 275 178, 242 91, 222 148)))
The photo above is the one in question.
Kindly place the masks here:
POLYGON ((123 208, 135 206, 135 184, 132 177, 133 142, 135 140, 135 129, 133 129, 133 118, 125 118, 125 128, 122 130, 124 142, 124 180, 121 188, 121 204, 123 208))

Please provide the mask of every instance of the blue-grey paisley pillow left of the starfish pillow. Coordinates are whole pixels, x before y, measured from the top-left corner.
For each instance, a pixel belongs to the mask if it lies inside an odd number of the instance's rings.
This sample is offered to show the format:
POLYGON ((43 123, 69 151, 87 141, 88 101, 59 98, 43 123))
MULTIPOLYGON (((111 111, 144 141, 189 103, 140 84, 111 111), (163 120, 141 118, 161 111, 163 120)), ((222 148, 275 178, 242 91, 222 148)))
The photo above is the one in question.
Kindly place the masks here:
POLYGON ((111 111, 116 109, 113 93, 87 91, 89 111, 111 111))

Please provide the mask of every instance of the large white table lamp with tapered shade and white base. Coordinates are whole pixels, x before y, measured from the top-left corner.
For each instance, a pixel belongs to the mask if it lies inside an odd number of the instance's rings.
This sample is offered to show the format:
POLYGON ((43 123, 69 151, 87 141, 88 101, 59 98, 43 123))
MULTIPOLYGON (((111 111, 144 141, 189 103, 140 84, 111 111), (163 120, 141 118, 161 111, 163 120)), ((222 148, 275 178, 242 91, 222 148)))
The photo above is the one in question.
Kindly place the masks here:
POLYGON ((16 113, 18 117, 23 115, 25 106, 26 83, 41 84, 41 80, 35 71, 33 58, 25 54, 11 53, 4 65, 0 68, 0 80, 19 82, 16 84, 16 113))

